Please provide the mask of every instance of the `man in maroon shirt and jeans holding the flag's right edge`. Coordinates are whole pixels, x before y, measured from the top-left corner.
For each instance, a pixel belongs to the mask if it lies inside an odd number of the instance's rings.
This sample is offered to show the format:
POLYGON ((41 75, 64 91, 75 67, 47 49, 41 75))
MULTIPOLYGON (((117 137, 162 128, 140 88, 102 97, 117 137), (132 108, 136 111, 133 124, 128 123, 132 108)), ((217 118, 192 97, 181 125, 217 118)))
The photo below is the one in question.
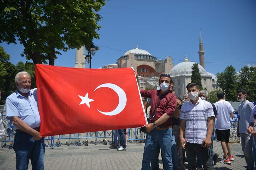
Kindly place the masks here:
POLYGON ((160 90, 140 90, 142 97, 151 98, 150 117, 152 117, 151 123, 144 125, 148 134, 144 147, 141 170, 149 170, 150 160, 157 143, 160 145, 161 152, 163 153, 164 169, 172 170, 171 125, 177 102, 175 95, 169 90, 171 81, 172 79, 169 74, 161 74, 159 78, 160 90), (158 103, 159 105, 157 106, 158 103))

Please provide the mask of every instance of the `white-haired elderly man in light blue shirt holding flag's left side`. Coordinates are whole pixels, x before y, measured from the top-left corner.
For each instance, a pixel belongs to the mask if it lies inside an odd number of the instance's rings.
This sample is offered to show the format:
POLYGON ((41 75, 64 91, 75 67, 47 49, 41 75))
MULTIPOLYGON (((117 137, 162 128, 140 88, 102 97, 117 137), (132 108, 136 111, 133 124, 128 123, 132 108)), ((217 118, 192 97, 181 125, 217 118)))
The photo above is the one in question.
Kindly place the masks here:
POLYGON ((37 90, 30 89, 31 78, 27 72, 15 76, 17 91, 6 99, 6 118, 16 129, 13 149, 16 169, 28 169, 29 159, 33 170, 44 169, 44 138, 40 134, 37 90))

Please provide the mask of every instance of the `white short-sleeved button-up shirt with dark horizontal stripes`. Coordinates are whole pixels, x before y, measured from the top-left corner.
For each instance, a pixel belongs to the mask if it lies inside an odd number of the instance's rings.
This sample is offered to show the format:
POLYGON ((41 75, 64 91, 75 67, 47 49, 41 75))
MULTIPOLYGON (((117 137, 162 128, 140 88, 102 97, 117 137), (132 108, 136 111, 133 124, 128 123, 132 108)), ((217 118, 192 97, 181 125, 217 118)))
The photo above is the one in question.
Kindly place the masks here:
POLYGON ((214 117, 211 103, 199 98, 195 105, 191 101, 183 104, 180 119, 186 120, 185 141, 202 143, 207 136, 209 117, 214 117))

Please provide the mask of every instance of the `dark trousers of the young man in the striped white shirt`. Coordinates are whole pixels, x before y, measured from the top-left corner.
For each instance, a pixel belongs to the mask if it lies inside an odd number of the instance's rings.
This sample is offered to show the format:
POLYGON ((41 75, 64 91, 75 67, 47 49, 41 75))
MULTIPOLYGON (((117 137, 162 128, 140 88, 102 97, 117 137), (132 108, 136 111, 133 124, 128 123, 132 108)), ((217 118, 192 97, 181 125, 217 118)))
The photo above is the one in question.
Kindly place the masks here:
POLYGON ((213 170, 212 158, 209 149, 204 148, 202 144, 186 142, 186 154, 188 159, 188 170, 196 169, 196 155, 199 153, 204 170, 213 170))

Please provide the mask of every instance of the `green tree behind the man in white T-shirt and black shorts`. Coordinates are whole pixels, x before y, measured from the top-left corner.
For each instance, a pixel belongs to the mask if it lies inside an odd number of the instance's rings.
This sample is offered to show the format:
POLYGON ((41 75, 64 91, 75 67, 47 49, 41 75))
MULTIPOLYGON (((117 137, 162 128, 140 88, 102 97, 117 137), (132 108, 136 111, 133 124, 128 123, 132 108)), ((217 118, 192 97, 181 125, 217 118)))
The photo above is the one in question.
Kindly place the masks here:
POLYGON ((229 101, 236 101, 237 75, 233 66, 228 66, 222 73, 217 73, 217 84, 225 92, 229 101))

